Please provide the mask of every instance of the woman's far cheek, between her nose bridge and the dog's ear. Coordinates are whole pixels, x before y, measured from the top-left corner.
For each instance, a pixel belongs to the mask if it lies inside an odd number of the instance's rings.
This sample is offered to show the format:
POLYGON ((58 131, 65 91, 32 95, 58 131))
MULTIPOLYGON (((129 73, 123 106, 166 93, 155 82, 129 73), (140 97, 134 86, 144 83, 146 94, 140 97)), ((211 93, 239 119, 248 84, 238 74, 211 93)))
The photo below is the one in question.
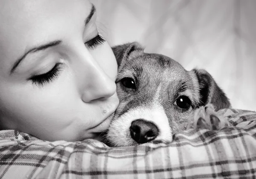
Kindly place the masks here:
POLYGON ((98 62, 99 66, 104 70, 109 78, 116 80, 117 63, 116 58, 109 44, 105 42, 91 52, 93 58, 98 62))

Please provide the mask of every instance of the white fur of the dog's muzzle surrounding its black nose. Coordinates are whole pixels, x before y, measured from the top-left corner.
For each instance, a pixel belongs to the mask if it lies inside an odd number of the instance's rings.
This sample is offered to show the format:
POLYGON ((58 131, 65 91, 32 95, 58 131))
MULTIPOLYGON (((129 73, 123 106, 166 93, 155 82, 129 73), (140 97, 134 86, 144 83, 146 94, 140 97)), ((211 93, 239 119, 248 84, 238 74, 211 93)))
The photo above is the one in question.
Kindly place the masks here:
POLYGON ((158 127, 159 135, 155 140, 172 141, 172 131, 166 113, 160 104, 154 104, 150 108, 139 106, 113 120, 107 135, 112 145, 116 147, 138 145, 130 134, 131 123, 136 119, 151 121, 158 127))

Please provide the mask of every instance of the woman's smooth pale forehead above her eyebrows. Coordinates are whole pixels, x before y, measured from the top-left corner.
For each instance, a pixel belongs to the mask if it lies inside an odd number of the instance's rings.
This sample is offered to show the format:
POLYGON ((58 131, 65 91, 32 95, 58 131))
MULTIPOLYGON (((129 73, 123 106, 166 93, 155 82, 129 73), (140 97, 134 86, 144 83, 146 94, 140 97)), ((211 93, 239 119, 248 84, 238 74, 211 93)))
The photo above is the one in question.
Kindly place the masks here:
POLYGON ((35 45, 81 31, 90 8, 88 0, 1 0, 0 68, 35 45))

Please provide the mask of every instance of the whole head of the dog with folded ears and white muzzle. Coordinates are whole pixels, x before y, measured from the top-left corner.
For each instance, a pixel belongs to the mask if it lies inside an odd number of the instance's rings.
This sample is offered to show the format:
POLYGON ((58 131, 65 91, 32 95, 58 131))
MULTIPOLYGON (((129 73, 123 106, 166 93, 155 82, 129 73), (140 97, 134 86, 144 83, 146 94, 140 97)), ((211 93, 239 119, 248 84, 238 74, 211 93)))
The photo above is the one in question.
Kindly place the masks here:
POLYGON ((171 141, 185 130, 195 109, 212 103, 230 107, 224 92, 205 70, 186 71, 178 62, 143 52, 139 43, 112 48, 117 64, 119 107, 107 133, 112 146, 171 141))

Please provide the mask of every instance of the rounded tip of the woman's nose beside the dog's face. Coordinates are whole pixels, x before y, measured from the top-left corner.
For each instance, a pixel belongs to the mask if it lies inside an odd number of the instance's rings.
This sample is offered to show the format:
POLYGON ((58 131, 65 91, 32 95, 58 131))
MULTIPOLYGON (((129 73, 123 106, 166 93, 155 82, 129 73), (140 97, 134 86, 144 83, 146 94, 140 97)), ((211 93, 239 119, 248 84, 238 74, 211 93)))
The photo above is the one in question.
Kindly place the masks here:
POLYGON ((90 102, 96 99, 107 99, 115 94, 116 83, 99 66, 93 66, 87 73, 87 85, 84 87, 82 100, 90 102))

